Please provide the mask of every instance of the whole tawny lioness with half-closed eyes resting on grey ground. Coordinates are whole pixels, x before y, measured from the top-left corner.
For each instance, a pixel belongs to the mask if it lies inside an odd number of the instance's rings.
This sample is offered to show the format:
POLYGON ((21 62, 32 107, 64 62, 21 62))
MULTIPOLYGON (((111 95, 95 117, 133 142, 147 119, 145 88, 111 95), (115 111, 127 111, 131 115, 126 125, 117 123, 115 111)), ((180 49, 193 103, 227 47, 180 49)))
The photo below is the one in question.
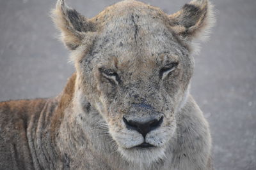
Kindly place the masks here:
POLYGON ((122 1, 90 19, 59 0, 52 18, 76 73, 55 98, 0 103, 0 169, 212 169, 189 94, 207 0, 173 15, 122 1))

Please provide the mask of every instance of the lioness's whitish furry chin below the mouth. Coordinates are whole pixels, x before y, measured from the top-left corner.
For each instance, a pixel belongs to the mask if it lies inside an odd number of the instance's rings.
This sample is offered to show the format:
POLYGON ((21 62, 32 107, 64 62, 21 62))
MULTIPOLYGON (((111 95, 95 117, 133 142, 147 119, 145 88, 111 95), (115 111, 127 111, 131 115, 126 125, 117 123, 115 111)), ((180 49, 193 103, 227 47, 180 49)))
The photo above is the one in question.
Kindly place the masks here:
POLYGON ((118 148, 125 160, 134 166, 150 166, 154 162, 164 159, 165 148, 150 147, 150 148, 118 148))

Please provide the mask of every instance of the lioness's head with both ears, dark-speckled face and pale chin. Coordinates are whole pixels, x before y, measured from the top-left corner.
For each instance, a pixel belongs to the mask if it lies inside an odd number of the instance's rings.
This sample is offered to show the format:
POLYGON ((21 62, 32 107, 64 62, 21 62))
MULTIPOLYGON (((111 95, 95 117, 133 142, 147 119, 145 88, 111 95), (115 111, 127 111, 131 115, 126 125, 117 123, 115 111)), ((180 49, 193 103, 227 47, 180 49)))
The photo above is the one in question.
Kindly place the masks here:
POLYGON ((58 1, 53 11, 72 52, 76 87, 107 122, 125 159, 164 157, 193 74, 192 41, 211 26, 211 4, 194 0, 173 15, 121 1, 86 18, 58 1))

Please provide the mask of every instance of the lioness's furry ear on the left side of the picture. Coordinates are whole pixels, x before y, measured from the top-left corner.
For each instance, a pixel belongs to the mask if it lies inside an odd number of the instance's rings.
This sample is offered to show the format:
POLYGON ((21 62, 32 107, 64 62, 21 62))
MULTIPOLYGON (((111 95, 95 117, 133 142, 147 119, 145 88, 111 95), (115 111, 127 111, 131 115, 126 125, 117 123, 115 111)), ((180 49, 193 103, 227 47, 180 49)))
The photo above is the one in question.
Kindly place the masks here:
POLYGON ((81 45, 86 32, 96 30, 96 24, 76 10, 68 8, 65 0, 58 0, 56 8, 52 10, 52 19, 61 31, 61 39, 68 49, 76 50, 81 45))

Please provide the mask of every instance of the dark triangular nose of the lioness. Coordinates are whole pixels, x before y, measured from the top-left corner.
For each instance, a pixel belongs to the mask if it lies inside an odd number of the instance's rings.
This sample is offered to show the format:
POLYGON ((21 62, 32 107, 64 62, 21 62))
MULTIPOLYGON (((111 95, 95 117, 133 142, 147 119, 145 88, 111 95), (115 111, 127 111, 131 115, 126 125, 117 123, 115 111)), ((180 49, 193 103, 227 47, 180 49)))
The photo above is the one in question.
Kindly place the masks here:
POLYGON ((123 117, 124 123, 127 127, 127 129, 134 129, 145 138, 148 132, 156 129, 159 127, 163 122, 163 117, 161 117, 159 120, 156 118, 149 120, 148 122, 138 122, 133 120, 127 120, 125 117, 123 117))

